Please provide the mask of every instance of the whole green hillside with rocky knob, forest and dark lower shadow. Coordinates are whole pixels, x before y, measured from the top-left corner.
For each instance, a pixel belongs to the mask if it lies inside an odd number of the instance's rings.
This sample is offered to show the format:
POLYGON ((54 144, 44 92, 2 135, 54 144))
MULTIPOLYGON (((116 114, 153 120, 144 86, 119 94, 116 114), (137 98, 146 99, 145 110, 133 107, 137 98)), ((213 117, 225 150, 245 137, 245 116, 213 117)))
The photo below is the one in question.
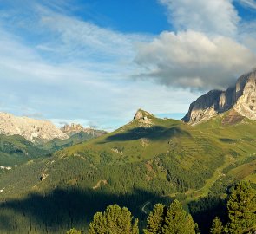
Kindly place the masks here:
POLYGON ((114 203, 143 221, 155 202, 225 198, 236 181, 256 183, 256 123, 239 116, 192 127, 139 110, 113 133, 31 160, 1 176, 3 230, 62 233, 114 203))

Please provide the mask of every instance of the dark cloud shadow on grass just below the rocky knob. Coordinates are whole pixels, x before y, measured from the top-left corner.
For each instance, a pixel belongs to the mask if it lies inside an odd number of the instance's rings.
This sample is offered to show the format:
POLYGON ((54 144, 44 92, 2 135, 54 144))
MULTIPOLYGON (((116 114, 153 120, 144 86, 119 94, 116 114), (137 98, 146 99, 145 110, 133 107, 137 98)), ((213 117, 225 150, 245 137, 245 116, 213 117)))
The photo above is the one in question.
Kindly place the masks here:
POLYGON ((180 127, 136 127, 128 130, 125 133, 116 133, 114 135, 110 135, 100 143, 103 144, 111 141, 139 140, 142 138, 147 138, 148 140, 166 140, 174 136, 181 135, 190 136, 190 133, 182 130, 180 127))

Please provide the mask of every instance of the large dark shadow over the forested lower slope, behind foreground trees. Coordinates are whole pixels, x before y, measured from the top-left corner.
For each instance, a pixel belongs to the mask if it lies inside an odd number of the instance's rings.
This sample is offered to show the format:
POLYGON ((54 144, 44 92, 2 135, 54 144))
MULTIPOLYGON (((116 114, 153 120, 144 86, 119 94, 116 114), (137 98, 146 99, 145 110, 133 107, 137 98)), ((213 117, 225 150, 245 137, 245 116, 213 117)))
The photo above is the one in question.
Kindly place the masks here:
POLYGON ((101 190, 56 189, 47 195, 31 193, 27 198, 13 199, 0 205, 1 233, 65 233, 71 227, 82 228, 96 211, 108 205, 126 206, 136 218, 144 220, 140 205, 146 201, 164 202, 150 192, 135 189, 131 194, 108 194, 101 190))

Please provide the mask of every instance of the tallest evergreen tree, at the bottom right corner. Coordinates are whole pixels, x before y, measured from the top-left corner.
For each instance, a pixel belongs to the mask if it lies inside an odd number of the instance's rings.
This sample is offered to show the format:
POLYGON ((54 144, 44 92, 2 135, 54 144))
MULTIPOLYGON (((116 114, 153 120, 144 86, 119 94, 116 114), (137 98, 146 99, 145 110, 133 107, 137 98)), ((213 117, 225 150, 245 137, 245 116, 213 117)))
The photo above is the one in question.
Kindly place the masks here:
POLYGON ((228 232, 244 233, 256 227, 256 192, 249 182, 240 182, 228 202, 228 232))

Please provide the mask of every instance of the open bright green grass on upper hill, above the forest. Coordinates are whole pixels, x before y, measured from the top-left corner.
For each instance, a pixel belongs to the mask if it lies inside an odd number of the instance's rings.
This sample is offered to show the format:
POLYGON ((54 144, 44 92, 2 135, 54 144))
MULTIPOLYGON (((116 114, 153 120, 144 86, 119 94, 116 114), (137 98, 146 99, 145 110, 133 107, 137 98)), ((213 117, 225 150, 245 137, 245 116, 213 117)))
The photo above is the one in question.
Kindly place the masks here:
MULTIPOLYGON (((153 128, 141 128, 140 123, 133 121, 114 133, 65 148, 56 153, 52 159, 44 159, 40 163, 45 167, 44 170, 53 174, 54 178, 58 170, 68 172, 70 165, 82 162, 82 170, 84 168, 102 170, 104 164, 126 166, 141 163, 145 166, 148 177, 151 173, 154 174, 154 176, 151 175, 152 178, 166 179, 165 169, 154 161, 156 158, 166 157, 174 160, 184 172, 189 172, 194 168, 201 172, 209 170, 211 175, 206 176, 206 183, 203 187, 190 188, 187 191, 189 198, 205 196, 215 180, 222 176, 224 168, 235 162, 238 166, 237 171, 233 169, 228 173, 236 174, 239 170, 246 170, 246 159, 256 152, 253 141, 256 130, 255 122, 243 120, 243 123, 223 127, 222 118, 223 116, 215 118, 196 127, 188 126, 178 120, 154 119, 153 128), (105 159, 107 162, 102 162, 104 155, 107 155, 105 159), (49 161, 53 160, 55 162, 49 164, 49 161), (67 164, 66 161, 69 163, 67 164), (148 163, 155 164, 152 165, 154 169, 152 168, 151 172, 148 169, 148 163), (209 169, 209 167, 212 168, 209 169)), ((40 163, 35 162, 35 164, 40 163)), ((250 165, 252 165, 251 162, 250 165)), ((31 166, 25 165, 24 167, 31 166)), ((250 172, 244 174, 237 173, 239 179, 246 177, 254 179, 254 167, 251 166, 251 169, 250 172)), ((65 173, 62 176, 65 178, 65 173)), ((58 180, 61 179, 56 175, 53 183, 58 183, 58 180)), ((92 181, 95 184, 96 182, 92 181)), ((47 187, 47 183, 45 184, 47 187)))

